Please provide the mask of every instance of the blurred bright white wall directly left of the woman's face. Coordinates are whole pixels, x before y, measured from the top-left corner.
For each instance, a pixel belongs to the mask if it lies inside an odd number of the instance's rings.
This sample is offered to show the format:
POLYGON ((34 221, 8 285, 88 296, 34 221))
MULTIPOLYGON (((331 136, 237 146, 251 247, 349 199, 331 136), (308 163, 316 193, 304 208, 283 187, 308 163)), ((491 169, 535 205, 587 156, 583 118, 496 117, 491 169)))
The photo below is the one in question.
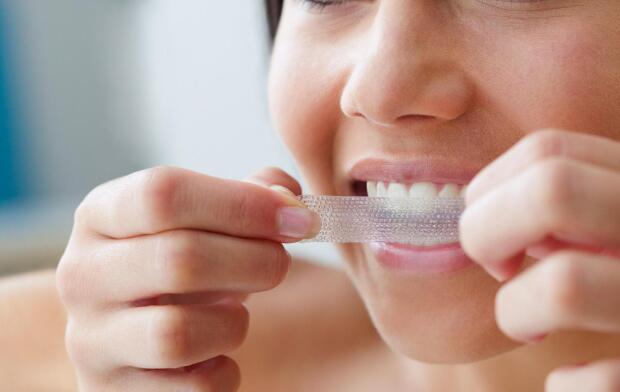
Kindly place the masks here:
MULTIPOLYGON (((299 178, 269 124, 262 1, 151 0, 139 25, 147 139, 159 162, 228 178, 276 165, 299 178)), ((337 260, 330 245, 290 248, 337 260)))

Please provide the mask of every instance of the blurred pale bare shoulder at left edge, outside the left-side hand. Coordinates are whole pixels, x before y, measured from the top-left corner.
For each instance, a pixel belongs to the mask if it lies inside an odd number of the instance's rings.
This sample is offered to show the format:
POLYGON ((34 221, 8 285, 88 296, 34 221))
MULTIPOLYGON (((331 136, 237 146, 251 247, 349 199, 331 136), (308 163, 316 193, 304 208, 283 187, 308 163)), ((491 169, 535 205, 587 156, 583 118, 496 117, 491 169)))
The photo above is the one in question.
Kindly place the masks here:
POLYGON ((54 271, 0 278, 0 390, 71 391, 54 271))

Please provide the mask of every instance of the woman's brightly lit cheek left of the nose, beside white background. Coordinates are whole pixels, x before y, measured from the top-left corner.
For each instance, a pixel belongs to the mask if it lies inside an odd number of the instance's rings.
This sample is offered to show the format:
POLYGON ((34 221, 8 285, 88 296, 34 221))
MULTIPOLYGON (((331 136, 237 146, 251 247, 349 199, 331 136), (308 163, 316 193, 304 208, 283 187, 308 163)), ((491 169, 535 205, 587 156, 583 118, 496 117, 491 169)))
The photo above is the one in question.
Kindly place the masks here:
POLYGON ((299 40, 281 40, 269 78, 272 121, 315 191, 328 191, 340 118, 340 74, 299 40), (291 44, 289 44, 291 42, 291 44), (292 45, 296 42, 297 45, 292 45), (312 60, 309 60, 312 59, 312 60))

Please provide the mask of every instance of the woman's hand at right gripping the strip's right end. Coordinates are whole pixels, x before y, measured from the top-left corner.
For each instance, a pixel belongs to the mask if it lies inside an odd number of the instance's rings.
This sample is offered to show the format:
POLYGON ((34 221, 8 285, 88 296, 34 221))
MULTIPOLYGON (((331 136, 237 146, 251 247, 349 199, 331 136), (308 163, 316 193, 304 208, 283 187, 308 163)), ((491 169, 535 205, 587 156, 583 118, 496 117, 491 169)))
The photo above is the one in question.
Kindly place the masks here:
MULTIPOLYGON (((496 298, 504 333, 620 333, 620 143, 532 133, 482 170, 466 199, 463 249, 498 280, 511 278, 496 298), (525 256, 539 261, 519 273, 525 256)), ((619 391, 620 360, 558 369, 546 386, 619 391)))

